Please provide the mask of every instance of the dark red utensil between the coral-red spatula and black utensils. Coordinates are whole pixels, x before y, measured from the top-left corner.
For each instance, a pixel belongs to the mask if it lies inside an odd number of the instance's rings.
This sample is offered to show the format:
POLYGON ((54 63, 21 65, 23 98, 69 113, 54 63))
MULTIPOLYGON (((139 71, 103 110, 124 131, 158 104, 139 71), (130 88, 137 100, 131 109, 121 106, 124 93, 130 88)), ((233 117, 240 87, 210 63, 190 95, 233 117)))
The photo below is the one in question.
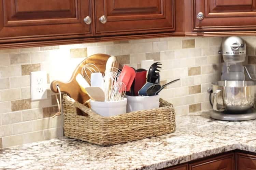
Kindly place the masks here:
MULTIPOLYGON (((134 79, 134 95, 139 96, 139 90, 146 83, 147 70, 145 69, 137 69, 136 75, 134 79)), ((131 88, 132 89, 132 88, 131 88)))

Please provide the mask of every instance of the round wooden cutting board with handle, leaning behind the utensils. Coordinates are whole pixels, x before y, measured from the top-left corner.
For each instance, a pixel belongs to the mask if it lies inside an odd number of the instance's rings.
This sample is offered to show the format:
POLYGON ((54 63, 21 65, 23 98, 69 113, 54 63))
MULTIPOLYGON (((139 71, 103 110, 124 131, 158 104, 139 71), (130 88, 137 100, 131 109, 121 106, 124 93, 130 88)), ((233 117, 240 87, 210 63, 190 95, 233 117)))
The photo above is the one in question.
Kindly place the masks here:
MULTIPOLYGON (((105 71, 105 67, 106 67, 106 62, 108 60, 108 58, 110 57, 110 55, 107 54, 94 54, 91 55, 89 57, 87 57, 85 60, 83 60, 74 70, 70 81, 68 82, 61 82, 59 80, 54 80, 51 83, 51 90, 55 93, 58 92, 57 90, 57 85, 60 88, 61 92, 66 93, 67 95, 69 95, 71 98, 73 98, 74 100, 80 102, 80 103, 85 103, 87 100, 89 100, 89 96, 87 94, 85 94, 79 87, 78 83, 75 80, 75 77, 78 73, 81 74, 81 70, 83 68, 83 66, 85 64, 91 63, 96 65, 100 72, 103 74, 105 71)), ((90 72, 87 72, 88 76, 90 77, 90 72)), ((86 80, 89 84, 89 80, 86 80)))

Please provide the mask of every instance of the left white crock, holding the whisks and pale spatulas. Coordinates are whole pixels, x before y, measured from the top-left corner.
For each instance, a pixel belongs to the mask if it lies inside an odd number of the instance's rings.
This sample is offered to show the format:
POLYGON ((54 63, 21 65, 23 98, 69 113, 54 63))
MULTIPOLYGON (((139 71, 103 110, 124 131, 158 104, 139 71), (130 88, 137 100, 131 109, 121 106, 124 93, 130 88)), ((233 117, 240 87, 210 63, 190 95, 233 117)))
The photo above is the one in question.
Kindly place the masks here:
POLYGON ((120 114, 126 113, 126 105, 127 105, 127 99, 123 98, 119 101, 90 101, 91 109, 95 113, 108 117, 108 116, 116 116, 120 114))

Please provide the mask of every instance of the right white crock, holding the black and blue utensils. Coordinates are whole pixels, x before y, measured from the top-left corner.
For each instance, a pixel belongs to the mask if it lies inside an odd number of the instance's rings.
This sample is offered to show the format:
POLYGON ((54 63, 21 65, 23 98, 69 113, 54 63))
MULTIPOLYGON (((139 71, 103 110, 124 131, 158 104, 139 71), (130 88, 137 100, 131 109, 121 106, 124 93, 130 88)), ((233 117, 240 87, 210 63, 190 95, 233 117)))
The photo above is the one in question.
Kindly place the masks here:
POLYGON ((159 95, 156 96, 125 96, 127 112, 141 111, 159 107, 159 95))

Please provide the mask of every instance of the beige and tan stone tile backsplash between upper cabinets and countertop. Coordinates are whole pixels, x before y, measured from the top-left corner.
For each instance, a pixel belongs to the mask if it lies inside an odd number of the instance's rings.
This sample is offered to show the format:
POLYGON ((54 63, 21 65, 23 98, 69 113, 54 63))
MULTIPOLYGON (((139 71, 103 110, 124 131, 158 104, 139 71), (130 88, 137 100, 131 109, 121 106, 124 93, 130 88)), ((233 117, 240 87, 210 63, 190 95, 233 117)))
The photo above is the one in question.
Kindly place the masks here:
MULTIPOLYGON (((254 75, 256 37, 242 38, 254 75)), ((0 50, 0 148, 62 136, 63 117, 51 118, 57 112, 55 95, 48 89, 47 99, 31 102, 30 72, 46 71, 49 88, 55 79, 68 81, 77 64, 96 53, 115 55, 118 62, 136 69, 142 60, 160 61, 162 85, 181 79, 160 92, 175 105, 177 115, 212 109, 207 89, 221 79, 221 41, 167 37, 0 50)))

